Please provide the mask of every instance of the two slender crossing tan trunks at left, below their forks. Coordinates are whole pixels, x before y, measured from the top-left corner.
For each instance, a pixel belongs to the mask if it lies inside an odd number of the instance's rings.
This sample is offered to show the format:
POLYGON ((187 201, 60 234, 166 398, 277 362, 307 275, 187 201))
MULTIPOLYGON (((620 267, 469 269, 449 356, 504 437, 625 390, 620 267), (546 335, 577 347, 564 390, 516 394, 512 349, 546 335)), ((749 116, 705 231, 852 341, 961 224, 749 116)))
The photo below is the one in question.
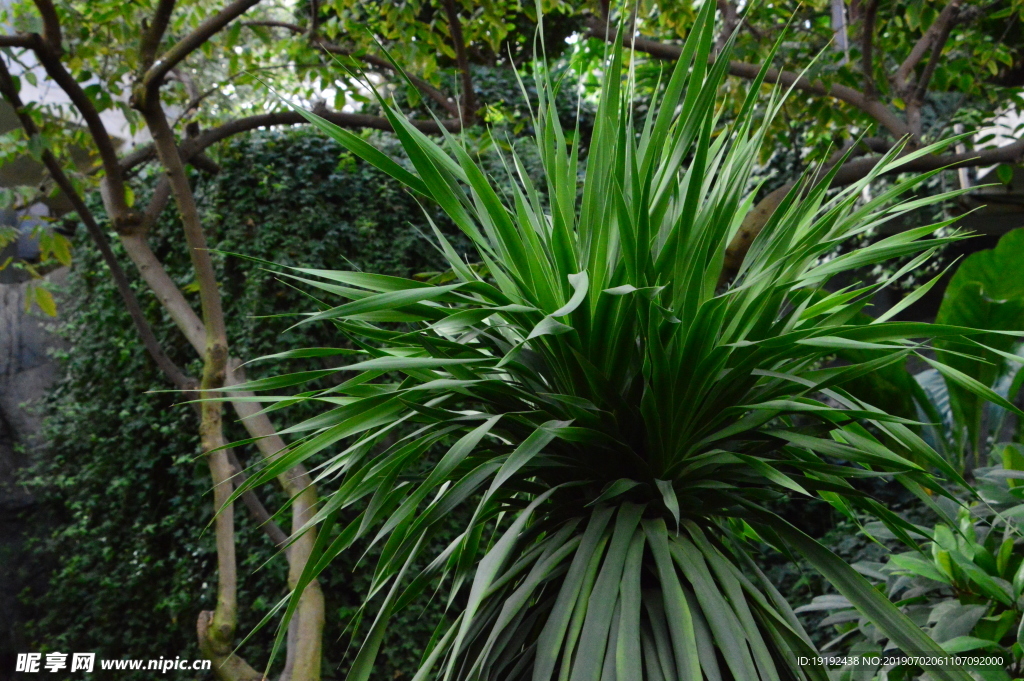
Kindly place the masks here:
MULTIPOLYGON (((185 175, 184 165, 178 154, 173 133, 159 102, 142 108, 147 127, 154 137, 158 157, 164 166, 178 212, 184 226, 189 254, 200 286, 203 318, 181 295, 177 286, 167 274, 163 265, 150 250, 145 236, 134 233, 122 236, 129 257, 135 262, 143 280, 157 294, 164 308, 175 325, 185 335, 189 343, 204 356, 204 383, 202 394, 223 385, 233 385, 245 380, 241 363, 228 359, 227 338, 223 310, 217 287, 213 263, 207 250, 206 238, 196 206, 195 197, 185 175), (208 374, 210 380, 208 381, 208 374)), ((236 393, 239 396, 242 393, 236 393)), ((223 433, 221 425, 221 402, 203 402, 204 452, 221 446, 223 433), (213 414, 213 410, 216 414, 213 414), (214 442, 218 442, 214 444, 214 442)), ((232 406, 246 429, 253 437, 258 437, 257 446, 267 460, 280 456, 285 446, 273 425, 265 414, 259 414, 260 407, 254 402, 233 401, 232 406)), ((226 452, 215 452, 209 456, 211 474, 214 478, 214 503, 221 509, 231 492, 231 466, 226 452)), ((299 530, 315 512, 316 492, 305 468, 298 466, 279 476, 285 492, 293 499, 292 533, 299 530)), ((237 655, 230 654, 237 623, 236 565, 233 518, 229 508, 222 508, 217 519, 218 548, 218 608, 212 614, 203 613, 198 623, 198 634, 204 653, 208 654, 218 670, 218 677, 231 681, 248 681, 261 678, 252 668, 237 655), (223 518, 223 520, 222 520, 223 518), (221 522, 224 526, 221 527, 221 522), (223 594, 221 593, 223 592, 223 594), (228 593, 229 592, 229 593, 228 593), (223 598, 221 596, 223 595, 223 598), (222 607, 223 603, 223 607, 222 607), (223 612, 221 612, 223 610, 223 612), (228 626, 229 625, 229 626, 228 626), (251 676, 256 674, 256 676, 251 676)), ((313 530, 298 538, 287 550, 289 562, 289 587, 294 588, 309 559, 315 542, 313 530)), ((306 587, 300 599, 289 630, 285 672, 282 681, 318 681, 324 630, 324 595, 315 582, 306 587)))

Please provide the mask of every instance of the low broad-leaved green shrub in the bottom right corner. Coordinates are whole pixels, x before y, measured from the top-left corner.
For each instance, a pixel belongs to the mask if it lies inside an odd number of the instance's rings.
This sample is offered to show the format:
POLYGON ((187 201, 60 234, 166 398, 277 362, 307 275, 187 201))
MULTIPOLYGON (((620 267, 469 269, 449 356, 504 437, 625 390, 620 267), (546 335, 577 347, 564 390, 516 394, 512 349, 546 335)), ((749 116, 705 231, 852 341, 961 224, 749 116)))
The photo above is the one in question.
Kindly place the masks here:
MULTIPOLYGON (((1019 677, 1024 662, 1024 550, 1020 521, 1024 504, 1018 479, 1024 477, 1024 457, 1008 445, 1007 466, 977 471, 981 503, 962 507, 934 527, 922 527, 930 541, 924 552, 907 551, 885 562, 859 561, 853 567, 877 582, 918 626, 950 653, 998 656, 1002 666, 978 666, 986 681, 1019 677), (1016 493, 1014 491, 1017 491, 1016 493)), ((952 510, 952 509, 948 509, 952 510)), ((877 523, 873 523, 877 524, 877 523)), ((885 528, 869 527, 877 540, 892 540, 885 528)), ((818 627, 836 637, 822 651, 837 658, 856 658, 839 670, 840 679, 920 677, 912 664, 864 665, 862 661, 900 656, 897 646, 839 594, 818 596, 796 609, 828 611, 818 627), (893 654, 893 653, 896 654, 893 654)))

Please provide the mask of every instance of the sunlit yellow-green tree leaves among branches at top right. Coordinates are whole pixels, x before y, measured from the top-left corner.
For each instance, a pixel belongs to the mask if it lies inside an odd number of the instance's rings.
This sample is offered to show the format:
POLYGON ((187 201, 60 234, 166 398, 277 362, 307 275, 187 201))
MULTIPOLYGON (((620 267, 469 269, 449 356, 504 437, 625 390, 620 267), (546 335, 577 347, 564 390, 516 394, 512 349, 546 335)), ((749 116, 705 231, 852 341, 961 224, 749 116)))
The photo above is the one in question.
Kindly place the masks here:
MULTIPOLYGON (((639 30, 665 40, 686 36, 699 7, 696 2, 646 0, 623 3, 623 13, 632 11, 634 4, 640 8, 639 30)), ((906 94, 893 82, 893 74, 947 4, 944 0, 898 0, 877 6, 870 76, 878 89, 877 96, 897 116, 902 116, 906 109, 902 99, 906 94)), ((839 49, 831 4, 825 0, 739 6, 745 10, 743 23, 752 29, 740 31, 734 58, 763 63, 773 47, 770 36, 788 26, 794 30, 777 46, 776 66, 781 63, 795 72, 808 69, 809 76, 825 87, 864 90, 864 5, 847 5, 846 50, 839 49)), ((934 74, 922 108, 926 138, 938 139, 951 133, 955 123, 968 130, 980 129, 984 127, 982 121, 991 120, 1008 101, 1021 105, 1015 88, 1004 84, 1014 71, 1013 65, 1022 57, 1018 38, 1022 30, 1021 9, 1019 0, 1002 0, 985 7, 974 3, 962 5, 962 20, 940 50, 938 62, 930 67, 934 74)), ((921 76, 925 61, 913 70, 912 78, 921 76)), ((738 107, 742 96, 736 88, 730 99, 738 107)), ((791 126, 795 121, 806 126, 801 143, 812 150, 812 157, 825 154, 837 139, 859 132, 888 134, 878 121, 855 107, 797 95, 786 103, 784 115, 771 124, 772 148, 794 145, 791 126)))

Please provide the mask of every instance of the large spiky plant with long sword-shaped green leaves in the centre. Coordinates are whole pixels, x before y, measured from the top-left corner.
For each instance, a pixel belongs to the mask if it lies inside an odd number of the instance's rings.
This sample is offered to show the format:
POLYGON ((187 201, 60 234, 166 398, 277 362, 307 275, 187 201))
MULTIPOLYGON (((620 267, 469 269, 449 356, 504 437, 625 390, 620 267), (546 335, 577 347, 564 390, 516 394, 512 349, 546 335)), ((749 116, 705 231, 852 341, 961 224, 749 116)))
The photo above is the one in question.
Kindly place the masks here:
MULTIPOLYGON (((624 51, 611 51, 582 198, 579 136, 564 135, 543 67, 535 113, 543 187, 512 152, 510 188, 496 190, 459 139, 435 142, 383 100, 415 171, 309 115, 436 202, 483 265, 460 259, 435 228, 454 272, 447 284, 299 269, 290 275, 347 301, 325 303, 305 323, 334 324, 349 349, 276 356, 365 357, 240 386, 351 375, 278 398, 319 401, 325 412, 285 430, 302 438, 244 485, 326 456, 319 479, 337 486, 311 523, 315 553, 295 594, 356 540, 380 547, 366 606, 376 619, 349 679, 369 677, 391 614, 438 579, 450 589, 451 618, 438 623, 415 681, 826 679, 823 668, 798 663, 814 646, 748 557, 753 540, 806 558, 907 652, 940 650, 766 507, 818 495, 912 544, 912 526, 848 480, 889 476, 930 501, 928 491, 942 494, 932 467, 956 477, 906 421, 843 384, 902 361, 928 339, 970 332, 888 321, 902 305, 864 323, 858 311, 886 282, 824 289, 838 274, 915 254, 900 275, 955 238, 929 240, 941 226, 930 225, 834 257, 852 237, 942 199, 893 205, 923 176, 859 200, 874 177, 935 150, 900 157, 896 148, 835 194, 829 174, 808 179, 720 288, 726 245, 753 203, 764 120, 782 96, 759 117, 758 79, 738 116, 722 124, 716 99, 728 59, 709 66, 713 12, 705 3, 643 120, 634 120, 631 81, 623 82, 624 51), (828 364, 844 348, 882 354, 828 364), (436 463, 424 470, 428 456, 436 463), (473 509, 464 531, 424 555, 463 505, 473 509)), ((283 601, 286 622, 296 602, 283 601)))

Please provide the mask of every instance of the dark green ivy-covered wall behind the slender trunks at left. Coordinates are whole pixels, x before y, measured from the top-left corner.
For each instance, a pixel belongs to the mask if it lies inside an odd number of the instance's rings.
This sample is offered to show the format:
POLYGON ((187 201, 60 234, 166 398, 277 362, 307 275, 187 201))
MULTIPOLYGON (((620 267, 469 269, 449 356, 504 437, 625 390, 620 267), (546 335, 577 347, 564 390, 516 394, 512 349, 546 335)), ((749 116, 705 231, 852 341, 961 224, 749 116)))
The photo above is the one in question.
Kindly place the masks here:
MULTIPOLYGON (((318 136, 292 131, 240 138, 221 164, 216 177, 193 177, 214 247, 317 266, 347 260, 402 276, 441 264, 419 231, 423 213, 416 202, 318 136)), ((147 198, 151 184, 136 191, 147 198)), ((150 243, 184 287, 193 274, 187 255, 174 247, 180 230, 169 211, 150 243)), ((81 230, 79 239, 86 239, 81 230)), ((94 250, 87 242, 77 247, 83 255, 61 311, 70 344, 61 356, 65 377, 49 400, 49 446, 26 479, 41 502, 36 519, 51 528, 36 543, 36 569, 49 573, 50 588, 27 596, 35 612, 29 640, 34 649, 94 650, 104 657, 198 658, 196 619, 212 607, 216 585, 212 533, 203 534, 212 508, 209 471, 197 458, 198 423, 180 396, 167 392, 94 250)), ((287 320, 265 318, 307 304, 272 273, 237 258, 218 257, 217 265, 228 334, 241 356, 266 353, 281 342, 328 340, 316 328, 288 330, 287 320)), ((171 357, 195 375, 198 361, 159 302, 141 283, 136 293, 171 357)), ((316 359, 306 366, 324 367, 316 359)), ((263 372, 255 365, 249 374, 263 372)), ((230 423, 228 432, 243 437, 245 431, 230 423)), ((243 462, 258 459, 251 448, 237 452, 243 462)), ((258 495, 270 509, 286 501, 273 484, 258 495)), ((237 526, 241 626, 252 628, 284 594, 287 566, 242 507, 237 526)), ((322 576, 329 612, 325 678, 350 662, 342 625, 372 579, 357 557, 322 576)), ((423 608, 437 616, 442 605, 426 601, 396 620, 377 678, 412 674, 431 633, 423 608)), ((265 658, 267 645, 257 637, 244 651, 265 658)))

